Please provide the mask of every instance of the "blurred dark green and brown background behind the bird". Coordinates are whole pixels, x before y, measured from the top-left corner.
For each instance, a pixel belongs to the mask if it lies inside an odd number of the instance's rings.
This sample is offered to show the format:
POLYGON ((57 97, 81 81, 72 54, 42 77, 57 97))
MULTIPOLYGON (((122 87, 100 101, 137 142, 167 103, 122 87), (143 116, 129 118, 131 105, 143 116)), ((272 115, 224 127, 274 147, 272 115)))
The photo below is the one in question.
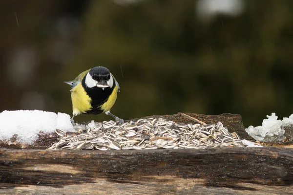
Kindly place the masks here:
MULTIPOLYGON (((102 65, 123 119, 293 108, 292 0, 1 0, 0 111, 72 115, 70 87, 102 65)), ((84 120, 109 120, 105 114, 84 120)))

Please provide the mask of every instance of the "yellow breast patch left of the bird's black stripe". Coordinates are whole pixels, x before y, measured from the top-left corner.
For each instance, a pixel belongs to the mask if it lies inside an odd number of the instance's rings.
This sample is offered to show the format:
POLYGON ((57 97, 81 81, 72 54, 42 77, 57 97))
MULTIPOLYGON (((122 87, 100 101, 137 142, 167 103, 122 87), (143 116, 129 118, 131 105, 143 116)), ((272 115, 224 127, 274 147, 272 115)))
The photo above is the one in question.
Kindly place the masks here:
MULTIPOLYGON (((117 95, 116 95, 117 97, 117 95)), ((86 94, 84 87, 81 83, 71 89, 71 99, 72 99, 72 109, 73 115, 79 115, 81 113, 85 113, 90 110, 91 107, 91 99, 86 94)))

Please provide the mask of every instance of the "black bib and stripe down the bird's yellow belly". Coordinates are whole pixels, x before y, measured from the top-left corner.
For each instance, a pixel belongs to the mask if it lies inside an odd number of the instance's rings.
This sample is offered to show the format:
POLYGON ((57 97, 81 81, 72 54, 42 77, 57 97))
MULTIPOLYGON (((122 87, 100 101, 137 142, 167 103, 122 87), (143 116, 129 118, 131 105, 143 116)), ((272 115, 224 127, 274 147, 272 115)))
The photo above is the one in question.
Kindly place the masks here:
POLYGON ((85 92, 87 95, 91 98, 91 110, 86 111, 86 114, 101 114, 104 111, 102 110, 101 106, 108 100, 109 96, 113 92, 113 89, 115 87, 115 82, 113 84, 113 87, 106 87, 104 90, 100 87, 86 87, 85 85, 85 77, 82 81, 82 86, 84 87, 85 92))

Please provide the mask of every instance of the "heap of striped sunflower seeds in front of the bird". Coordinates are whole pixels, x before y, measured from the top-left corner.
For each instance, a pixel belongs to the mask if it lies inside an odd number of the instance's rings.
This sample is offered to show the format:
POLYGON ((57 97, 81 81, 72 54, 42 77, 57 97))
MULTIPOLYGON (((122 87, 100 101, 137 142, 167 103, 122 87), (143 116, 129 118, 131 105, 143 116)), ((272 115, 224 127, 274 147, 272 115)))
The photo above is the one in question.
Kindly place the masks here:
POLYGON ((51 150, 147 150, 207 149, 245 147, 239 136, 217 124, 183 124, 165 119, 140 119, 119 124, 113 121, 95 123, 94 127, 66 134, 56 130, 60 141, 51 150))

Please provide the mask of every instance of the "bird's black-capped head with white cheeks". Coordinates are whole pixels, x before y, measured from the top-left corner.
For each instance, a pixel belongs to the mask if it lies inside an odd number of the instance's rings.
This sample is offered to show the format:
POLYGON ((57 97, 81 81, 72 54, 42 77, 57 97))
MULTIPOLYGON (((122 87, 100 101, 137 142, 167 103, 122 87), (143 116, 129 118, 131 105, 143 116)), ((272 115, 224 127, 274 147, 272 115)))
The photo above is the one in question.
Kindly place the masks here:
POLYGON ((85 76, 85 85, 89 88, 111 88, 113 87, 113 83, 114 80, 110 71, 108 70, 108 68, 103 66, 93 67, 85 76))

